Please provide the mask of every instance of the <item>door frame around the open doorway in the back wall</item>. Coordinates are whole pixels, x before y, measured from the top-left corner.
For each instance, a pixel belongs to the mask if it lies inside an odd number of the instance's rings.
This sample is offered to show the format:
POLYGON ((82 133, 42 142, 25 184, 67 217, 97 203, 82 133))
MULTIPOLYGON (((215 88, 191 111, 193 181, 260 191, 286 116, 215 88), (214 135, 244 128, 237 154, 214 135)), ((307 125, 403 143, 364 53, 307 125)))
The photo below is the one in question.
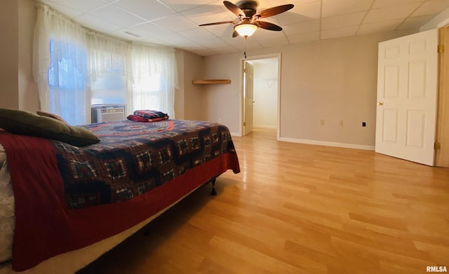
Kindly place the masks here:
POLYGON ((240 132, 241 136, 244 136, 245 131, 243 130, 243 120, 245 119, 245 113, 244 113, 244 98, 243 98, 243 65, 245 61, 253 61, 253 60, 260 60, 260 59, 272 59, 276 58, 278 60, 278 86, 277 86, 277 93, 278 93, 278 105, 277 105, 277 126, 276 126, 276 140, 279 141, 280 135, 281 135, 281 53, 273 53, 273 54, 267 54, 267 55, 255 55, 250 57, 241 57, 240 58, 240 132))

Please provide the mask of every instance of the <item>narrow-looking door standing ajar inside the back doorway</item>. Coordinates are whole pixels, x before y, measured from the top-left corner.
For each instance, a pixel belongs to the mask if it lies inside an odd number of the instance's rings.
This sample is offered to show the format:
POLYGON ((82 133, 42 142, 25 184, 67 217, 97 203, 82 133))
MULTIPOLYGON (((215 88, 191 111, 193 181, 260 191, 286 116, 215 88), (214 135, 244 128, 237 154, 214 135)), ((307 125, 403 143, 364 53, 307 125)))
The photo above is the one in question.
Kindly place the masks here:
POLYGON ((244 97, 245 97, 245 121, 243 121, 243 129, 244 129, 244 135, 247 135, 248 133, 253 131, 253 124, 254 124, 254 69, 253 65, 245 62, 245 90, 244 90, 244 97))

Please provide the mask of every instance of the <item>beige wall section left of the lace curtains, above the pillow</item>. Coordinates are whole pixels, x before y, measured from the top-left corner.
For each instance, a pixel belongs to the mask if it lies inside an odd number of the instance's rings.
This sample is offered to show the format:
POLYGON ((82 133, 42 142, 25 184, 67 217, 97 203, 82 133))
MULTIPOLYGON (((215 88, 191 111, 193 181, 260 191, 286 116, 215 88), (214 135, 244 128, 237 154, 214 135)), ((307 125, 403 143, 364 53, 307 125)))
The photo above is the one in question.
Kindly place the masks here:
POLYGON ((32 78, 36 8, 33 0, 4 1, 0 9, 0 107, 39 110, 32 78))

